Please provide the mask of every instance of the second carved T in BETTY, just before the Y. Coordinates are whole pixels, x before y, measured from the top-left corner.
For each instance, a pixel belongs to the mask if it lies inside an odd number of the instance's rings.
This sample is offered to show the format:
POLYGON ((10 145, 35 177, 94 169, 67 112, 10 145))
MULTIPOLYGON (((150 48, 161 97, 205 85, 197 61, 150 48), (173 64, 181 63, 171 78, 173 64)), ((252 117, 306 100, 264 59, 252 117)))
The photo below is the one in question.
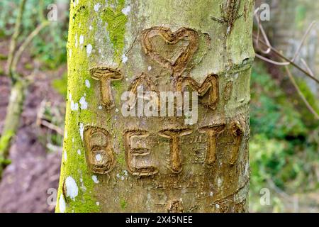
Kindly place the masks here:
POLYGON ((216 160, 216 138, 225 130, 225 124, 207 126, 199 129, 200 133, 207 133, 206 164, 213 165, 216 160))

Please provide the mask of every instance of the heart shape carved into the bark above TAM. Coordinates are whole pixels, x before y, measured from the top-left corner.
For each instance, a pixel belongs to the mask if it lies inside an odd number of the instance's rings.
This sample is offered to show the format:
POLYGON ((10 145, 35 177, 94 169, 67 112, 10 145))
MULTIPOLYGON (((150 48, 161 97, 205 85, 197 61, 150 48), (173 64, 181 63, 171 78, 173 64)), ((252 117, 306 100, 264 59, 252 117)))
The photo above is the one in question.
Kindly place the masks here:
POLYGON ((152 60, 155 60, 163 67, 173 71, 173 77, 179 77, 186 69, 187 64, 193 57, 194 53, 198 49, 198 33, 190 28, 179 28, 176 32, 172 33, 169 28, 152 27, 142 33, 142 46, 145 54, 150 56, 152 60), (159 35, 162 37, 168 45, 174 45, 181 40, 189 41, 184 50, 181 51, 179 57, 172 62, 163 57, 157 52, 156 47, 152 45, 151 39, 159 35))

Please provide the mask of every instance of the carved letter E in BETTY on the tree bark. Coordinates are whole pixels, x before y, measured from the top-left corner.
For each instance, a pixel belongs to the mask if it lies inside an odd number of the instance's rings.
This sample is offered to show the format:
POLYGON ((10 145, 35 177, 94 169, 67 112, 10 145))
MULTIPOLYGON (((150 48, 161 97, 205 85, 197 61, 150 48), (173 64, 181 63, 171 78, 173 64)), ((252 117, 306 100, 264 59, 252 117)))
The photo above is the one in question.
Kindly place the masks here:
POLYGON ((125 160, 128 172, 136 176, 150 176, 157 173, 157 169, 152 166, 139 166, 136 164, 139 157, 150 155, 150 148, 145 140, 149 134, 147 131, 126 131, 124 133, 125 160))

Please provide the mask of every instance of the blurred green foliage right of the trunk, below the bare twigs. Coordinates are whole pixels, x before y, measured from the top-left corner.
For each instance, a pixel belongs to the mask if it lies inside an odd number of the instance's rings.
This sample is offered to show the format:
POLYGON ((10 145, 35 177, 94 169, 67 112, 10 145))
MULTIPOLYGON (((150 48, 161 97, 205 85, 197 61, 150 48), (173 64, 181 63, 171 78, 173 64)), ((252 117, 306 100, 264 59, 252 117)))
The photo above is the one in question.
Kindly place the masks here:
POLYGON ((297 211, 296 195, 319 189, 318 122, 306 125, 293 105, 296 100, 284 93, 264 62, 254 63, 251 84, 250 208, 297 211), (272 192, 270 206, 259 203, 262 188, 272 192))

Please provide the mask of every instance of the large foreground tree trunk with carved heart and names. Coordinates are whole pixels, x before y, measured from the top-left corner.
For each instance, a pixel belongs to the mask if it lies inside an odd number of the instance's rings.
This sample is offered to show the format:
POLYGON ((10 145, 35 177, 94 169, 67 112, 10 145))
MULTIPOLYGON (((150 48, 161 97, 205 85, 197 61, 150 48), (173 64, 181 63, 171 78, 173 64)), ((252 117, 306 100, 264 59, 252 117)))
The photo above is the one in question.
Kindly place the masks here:
POLYGON ((247 211, 253 2, 72 1, 57 212, 247 211))

